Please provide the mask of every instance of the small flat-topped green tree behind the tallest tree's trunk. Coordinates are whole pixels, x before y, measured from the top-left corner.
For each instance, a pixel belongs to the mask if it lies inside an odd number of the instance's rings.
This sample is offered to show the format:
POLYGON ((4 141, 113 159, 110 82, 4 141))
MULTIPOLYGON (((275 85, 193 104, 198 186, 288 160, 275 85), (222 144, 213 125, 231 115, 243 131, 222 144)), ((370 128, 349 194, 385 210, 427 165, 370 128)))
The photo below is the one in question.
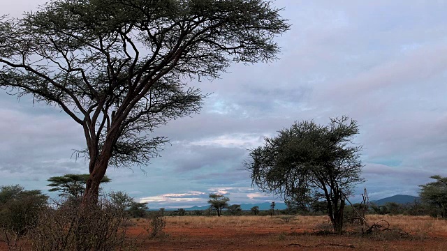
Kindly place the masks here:
MULTIPOLYGON (((82 198, 85 192, 85 184, 90 174, 65 174, 64 176, 53 176, 47 179, 51 182, 47 186, 52 187, 50 192, 61 192, 63 197, 82 198)), ((108 176, 103 176, 101 183, 110 182, 108 176)))

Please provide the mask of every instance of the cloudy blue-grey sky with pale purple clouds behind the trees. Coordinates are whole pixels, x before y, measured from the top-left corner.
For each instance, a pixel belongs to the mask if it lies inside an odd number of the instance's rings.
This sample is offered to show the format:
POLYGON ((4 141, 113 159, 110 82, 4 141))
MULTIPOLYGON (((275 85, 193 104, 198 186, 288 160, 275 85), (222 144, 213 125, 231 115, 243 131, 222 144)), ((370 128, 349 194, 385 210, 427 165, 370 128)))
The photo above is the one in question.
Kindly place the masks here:
MULTIPOLYGON (((0 0, 1 14, 20 16, 45 0, 0 0)), ((231 203, 280 201, 251 188, 242 162, 263 137, 293 121, 347 115, 364 146, 360 195, 417 195, 430 176, 447 176, 447 1, 278 0, 293 24, 277 38, 280 60, 234 65, 205 93, 200 114, 171 121, 162 157, 110 169, 105 190, 124 190, 150 208, 206 204, 210 192, 231 203)), ((0 185, 46 191, 50 176, 86 173, 82 128, 54 107, 0 91, 0 185)))

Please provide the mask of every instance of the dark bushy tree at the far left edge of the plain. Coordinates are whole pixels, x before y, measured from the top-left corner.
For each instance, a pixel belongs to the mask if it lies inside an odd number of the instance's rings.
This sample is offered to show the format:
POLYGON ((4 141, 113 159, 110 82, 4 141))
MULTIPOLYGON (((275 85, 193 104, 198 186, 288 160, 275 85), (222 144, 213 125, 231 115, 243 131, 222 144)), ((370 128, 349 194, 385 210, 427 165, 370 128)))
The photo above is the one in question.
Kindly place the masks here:
POLYGON ((41 190, 24 190, 21 185, 0 186, 0 230, 21 236, 34 227, 41 210, 47 206, 41 190))

